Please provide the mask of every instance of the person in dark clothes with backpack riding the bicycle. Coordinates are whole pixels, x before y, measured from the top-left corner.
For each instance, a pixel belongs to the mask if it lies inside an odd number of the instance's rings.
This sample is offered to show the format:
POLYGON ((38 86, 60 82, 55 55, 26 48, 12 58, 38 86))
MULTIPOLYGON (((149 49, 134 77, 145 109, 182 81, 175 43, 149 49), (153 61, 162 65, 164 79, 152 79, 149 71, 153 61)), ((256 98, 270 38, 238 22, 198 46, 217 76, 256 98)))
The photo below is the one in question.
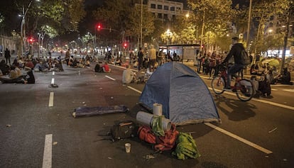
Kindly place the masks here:
POLYGON ((233 46, 223 63, 228 62, 231 57, 234 57, 234 65, 228 69, 227 86, 224 89, 231 89, 232 74, 240 72, 244 67, 241 63, 241 51, 244 50, 244 46, 242 43, 239 43, 239 38, 237 37, 232 38, 232 43, 233 46))

